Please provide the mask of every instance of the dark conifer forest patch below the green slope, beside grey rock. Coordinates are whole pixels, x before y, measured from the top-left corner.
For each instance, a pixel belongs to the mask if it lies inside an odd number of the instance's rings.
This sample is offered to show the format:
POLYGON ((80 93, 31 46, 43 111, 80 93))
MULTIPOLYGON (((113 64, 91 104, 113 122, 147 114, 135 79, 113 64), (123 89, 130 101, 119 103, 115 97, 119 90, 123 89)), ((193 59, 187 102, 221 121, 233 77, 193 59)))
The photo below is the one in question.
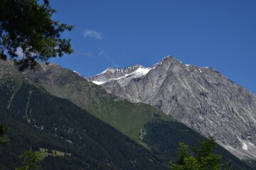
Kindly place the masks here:
MULTIPOLYGON (((144 137, 146 142, 154 154, 169 163, 171 160, 174 162, 178 157, 179 143, 183 142, 188 145, 191 149, 201 146, 205 137, 201 136, 197 132, 191 130, 181 123, 168 122, 164 120, 151 120, 145 125, 147 135, 144 137)), ((217 145, 213 152, 222 156, 222 164, 231 162, 235 169, 251 169, 250 166, 241 162, 240 159, 235 157, 230 152, 227 152, 223 147, 217 145)))

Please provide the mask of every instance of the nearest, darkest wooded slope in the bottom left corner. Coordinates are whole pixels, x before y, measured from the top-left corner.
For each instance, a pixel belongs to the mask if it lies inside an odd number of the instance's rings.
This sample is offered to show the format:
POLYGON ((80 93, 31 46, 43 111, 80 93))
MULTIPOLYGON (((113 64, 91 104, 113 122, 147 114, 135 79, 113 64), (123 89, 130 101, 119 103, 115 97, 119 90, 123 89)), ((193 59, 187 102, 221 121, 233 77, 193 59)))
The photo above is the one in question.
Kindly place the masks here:
POLYGON ((20 155, 28 149, 38 152, 41 149, 55 149, 58 152, 70 154, 64 157, 48 156, 39 163, 42 169, 108 169, 97 159, 90 158, 78 147, 65 139, 52 135, 43 130, 38 130, 27 120, 18 118, 4 108, 0 108, 1 123, 9 125, 6 135, 11 143, 5 147, 0 146, 0 169, 16 169, 21 166, 20 155), (49 167, 50 166, 50 167, 49 167))

